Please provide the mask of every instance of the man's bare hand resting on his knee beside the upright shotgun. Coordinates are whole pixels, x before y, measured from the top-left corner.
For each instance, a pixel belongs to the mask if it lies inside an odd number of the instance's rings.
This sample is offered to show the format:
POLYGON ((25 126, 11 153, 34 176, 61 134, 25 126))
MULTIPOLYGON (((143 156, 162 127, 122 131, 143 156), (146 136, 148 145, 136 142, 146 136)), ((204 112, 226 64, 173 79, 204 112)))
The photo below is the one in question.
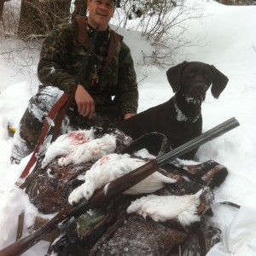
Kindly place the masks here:
POLYGON ((91 119, 95 113, 94 101, 81 84, 79 84, 78 89, 76 90, 75 101, 78 104, 79 114, 91 119))

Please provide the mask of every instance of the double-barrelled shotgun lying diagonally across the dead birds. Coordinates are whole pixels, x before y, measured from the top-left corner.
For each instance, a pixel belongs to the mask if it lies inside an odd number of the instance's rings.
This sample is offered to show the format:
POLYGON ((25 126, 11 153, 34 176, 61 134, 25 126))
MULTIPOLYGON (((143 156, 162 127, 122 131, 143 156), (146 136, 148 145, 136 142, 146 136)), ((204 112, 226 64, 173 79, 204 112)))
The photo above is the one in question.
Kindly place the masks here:
POLYGON ((103 188, 97 189, 89 201, 81 200, 77 205, 67 205, 67 207, 62 208, 54 218, 50 219, 49 222, 41 226, 41 228, 33 231, 31 234, 20 240, 15 241, 8 247, 3 248, 3 250, 0 251, 0 256, 16 256, 26 252, 26 250, 43 239, 49 232, 55 230, 57 224, 65 223, 71 217, 76 218, 90 208, 100 207, 114 196, 125 192, 125 190, 130 189, 153 172, 156 172, 160 166, 164 166, 178 156, 183 155, 194 148, 200 147, 203 143, 207 143, 213 138, 219 137, 225 132, 236 128, 238 125, 239 123, 235 118, 228 119, 224 123, 201 134, 201 136, 195 137, 195 139, 190 140, 188 143, 184 143, 172 151, 158 157, 156 160, 150 160, 143 166, 138 167, 122 177, 118 177, 113 182, 109 183, 107 194, 105 194, 103 188))

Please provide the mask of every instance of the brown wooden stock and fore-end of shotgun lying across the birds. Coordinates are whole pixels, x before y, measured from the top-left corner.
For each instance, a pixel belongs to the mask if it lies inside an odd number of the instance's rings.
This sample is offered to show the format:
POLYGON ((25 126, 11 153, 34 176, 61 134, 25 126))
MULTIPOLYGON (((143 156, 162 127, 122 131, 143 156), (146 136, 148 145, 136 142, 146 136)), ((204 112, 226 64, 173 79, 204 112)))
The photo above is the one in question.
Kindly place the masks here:
POLYGON ((44 236, 49 234, 52 230, 55 230, 58 224, 65 223, 69 218, 77 217, 83 212, 88 211, 90 208, 101 206, 115 195, 119 195, 125 190, 130 189, 157 169, 158 166, 156 162, 151 160, 136 170, 109 183, 107 194, 105 194, 103 188, 97 189, 89 201, 82 200, 75 206, 67 205, 67 207, 61 209, 54 218, 50 219, 49 222, 41 226, 38 230, 34 230, 31 234, 24 236, 8 247, 3 248, 3 250, 0 251, 0 256, 17 256, 21 253, 25 253, 26 250, 42 240, 44 236))

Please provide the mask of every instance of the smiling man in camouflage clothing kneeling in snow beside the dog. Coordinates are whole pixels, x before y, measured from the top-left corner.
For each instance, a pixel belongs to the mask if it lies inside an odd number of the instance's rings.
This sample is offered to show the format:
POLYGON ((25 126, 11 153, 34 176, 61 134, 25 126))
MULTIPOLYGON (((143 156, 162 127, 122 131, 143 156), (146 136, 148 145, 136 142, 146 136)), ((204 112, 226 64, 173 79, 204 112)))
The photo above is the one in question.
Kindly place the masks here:
POLYGON ((117 127, 123 119, 137 113, 137 78, 130 49, 123 37, 108 26, 114 6, 115 0, 89 0, 88 18, 80 16, 73 23, 57 26, 45 39, 38 63, 38 79, 43 85, 20 120, 12 163, 20 163, 34 150, 49 110, 63 90, 68 91, 76 81, 97 26, 95 49, 82 70, 66 123, 75 130, 95 125, 117 127))

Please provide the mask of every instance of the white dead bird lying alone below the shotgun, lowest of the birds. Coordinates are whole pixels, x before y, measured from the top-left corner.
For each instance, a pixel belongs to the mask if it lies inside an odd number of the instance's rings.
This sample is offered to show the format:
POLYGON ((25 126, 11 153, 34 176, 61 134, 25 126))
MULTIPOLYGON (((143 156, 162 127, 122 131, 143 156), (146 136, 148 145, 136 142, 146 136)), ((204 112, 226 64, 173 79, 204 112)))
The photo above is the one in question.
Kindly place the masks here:
POLYGON ((127 213, 136 212, 144 218, 149 216, 154 221, 165 222, 176 219, 184 226, 200 220, 197 207, 200 205, 200 196, 203 189, 195 195, 148 195, 131 202, 127 213))

